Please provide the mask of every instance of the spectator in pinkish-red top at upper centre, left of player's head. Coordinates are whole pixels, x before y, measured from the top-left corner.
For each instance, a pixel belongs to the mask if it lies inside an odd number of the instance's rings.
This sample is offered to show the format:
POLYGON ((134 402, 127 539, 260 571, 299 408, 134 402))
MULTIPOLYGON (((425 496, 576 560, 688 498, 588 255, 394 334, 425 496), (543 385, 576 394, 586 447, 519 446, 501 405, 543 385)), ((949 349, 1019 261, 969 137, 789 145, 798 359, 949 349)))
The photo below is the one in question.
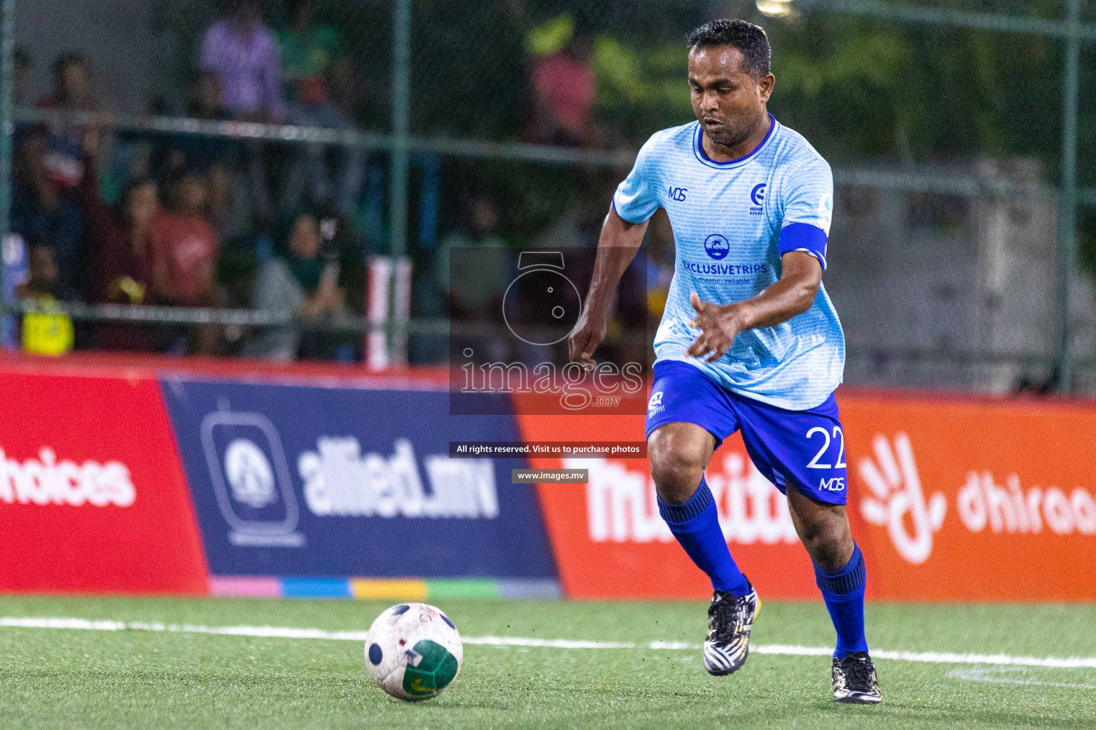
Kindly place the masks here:
POLYGON ((527 138, 539 144, 586 147, 595 141, 594 39, 575 33, 563 48, 533 63, 533 120, 527 138))

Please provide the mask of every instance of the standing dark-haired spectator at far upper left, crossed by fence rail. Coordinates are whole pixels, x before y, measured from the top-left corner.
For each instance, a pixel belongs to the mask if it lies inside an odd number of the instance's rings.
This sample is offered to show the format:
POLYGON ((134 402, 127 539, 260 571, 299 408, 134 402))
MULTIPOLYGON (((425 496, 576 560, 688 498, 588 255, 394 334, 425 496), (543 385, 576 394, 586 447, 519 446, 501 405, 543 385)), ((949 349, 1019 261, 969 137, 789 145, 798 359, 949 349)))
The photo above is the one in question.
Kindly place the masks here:
MULTIPOLYGON (((101 109, 92 96, 88 60, 80 51, 62 54, 54 61, 54 91, 38 100, 37 107, 56 112, 101 109)), ((83 134, 87 125, 54 121, 45 126, 47 149, 44 158, 50 184, 58 189, 76 189, 83 179, 83 134)))

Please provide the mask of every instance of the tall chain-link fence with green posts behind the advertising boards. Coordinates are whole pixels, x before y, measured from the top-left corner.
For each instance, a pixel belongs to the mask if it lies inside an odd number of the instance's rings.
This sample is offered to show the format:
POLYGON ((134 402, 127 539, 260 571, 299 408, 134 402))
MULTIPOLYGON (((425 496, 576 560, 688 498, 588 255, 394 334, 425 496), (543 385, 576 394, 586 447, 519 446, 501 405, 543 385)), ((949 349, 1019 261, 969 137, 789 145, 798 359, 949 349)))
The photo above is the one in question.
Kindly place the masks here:
MULTIPOLYGON (((635 150, 693 118, 686 35, 727 15, 766 27, 770 109, 834 166, 826 287, 847 382, 1008 392, 1064 380, 1096 393, 1092 3, 7 2, 11 229, 30 248, 22 269, 5 268, 5 301, 71 302, 78 348, 369 361, 364 335, 379 332, 395 360, 438 361, 446 252, 596 245, 635 150), (66 100, 77 66, 87 93, 66 100), (1074 136, 1078 187, 1063 196, 1074 136), (158 271, 155 251, 138 251, 135 182, 169 217, 150 248, 185 248, 194 218, 213 230, 192 252, 213 262, 212 282, 191 287, 193 270, 158 271), (1061 223, 1074 198, 1075 244, 1061 223), (36 258, 47 247, 54 281, 36 258), (410 259, 410 280, 377 267, 392 256, 410 259), (139 336, 101 309, 125 304, 155 305, 134 310, 139 336)), ((657 313, 673 266, 663 217, 637 266, 657 313)), ((9 316, 8 346, 18 324, 9 316)))

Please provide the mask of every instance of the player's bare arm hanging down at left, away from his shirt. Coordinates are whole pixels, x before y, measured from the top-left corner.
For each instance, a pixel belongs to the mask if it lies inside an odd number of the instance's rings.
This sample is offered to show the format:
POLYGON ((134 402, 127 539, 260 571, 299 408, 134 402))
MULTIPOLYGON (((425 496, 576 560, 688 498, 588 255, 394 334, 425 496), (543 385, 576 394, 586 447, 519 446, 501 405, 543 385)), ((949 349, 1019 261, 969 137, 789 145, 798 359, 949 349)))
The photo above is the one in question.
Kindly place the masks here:
POLYGON ((609 208, 597 241, 597 258, 594 260, 590 291, 586 293, 582 314, 579 315, 574 331, 567 341, 572 362, 582 362, 587 368, 594 367, 594 350, 605 339, 605 318, 613 292, 616 291, 628 265, 636 257, 646 232, 647 221, 630 223, 620 218, 612 207, 609 208))

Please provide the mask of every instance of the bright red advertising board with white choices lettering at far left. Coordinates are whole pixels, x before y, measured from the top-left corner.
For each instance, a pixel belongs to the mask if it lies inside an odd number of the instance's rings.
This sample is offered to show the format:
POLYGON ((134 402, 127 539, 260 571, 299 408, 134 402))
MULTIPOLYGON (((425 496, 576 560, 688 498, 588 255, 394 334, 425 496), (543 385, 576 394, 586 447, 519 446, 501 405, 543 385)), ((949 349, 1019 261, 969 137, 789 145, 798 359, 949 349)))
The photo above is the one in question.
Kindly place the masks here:
POLYGON ((150 374, 0 367, 0 591, 207 593, 150 374))

